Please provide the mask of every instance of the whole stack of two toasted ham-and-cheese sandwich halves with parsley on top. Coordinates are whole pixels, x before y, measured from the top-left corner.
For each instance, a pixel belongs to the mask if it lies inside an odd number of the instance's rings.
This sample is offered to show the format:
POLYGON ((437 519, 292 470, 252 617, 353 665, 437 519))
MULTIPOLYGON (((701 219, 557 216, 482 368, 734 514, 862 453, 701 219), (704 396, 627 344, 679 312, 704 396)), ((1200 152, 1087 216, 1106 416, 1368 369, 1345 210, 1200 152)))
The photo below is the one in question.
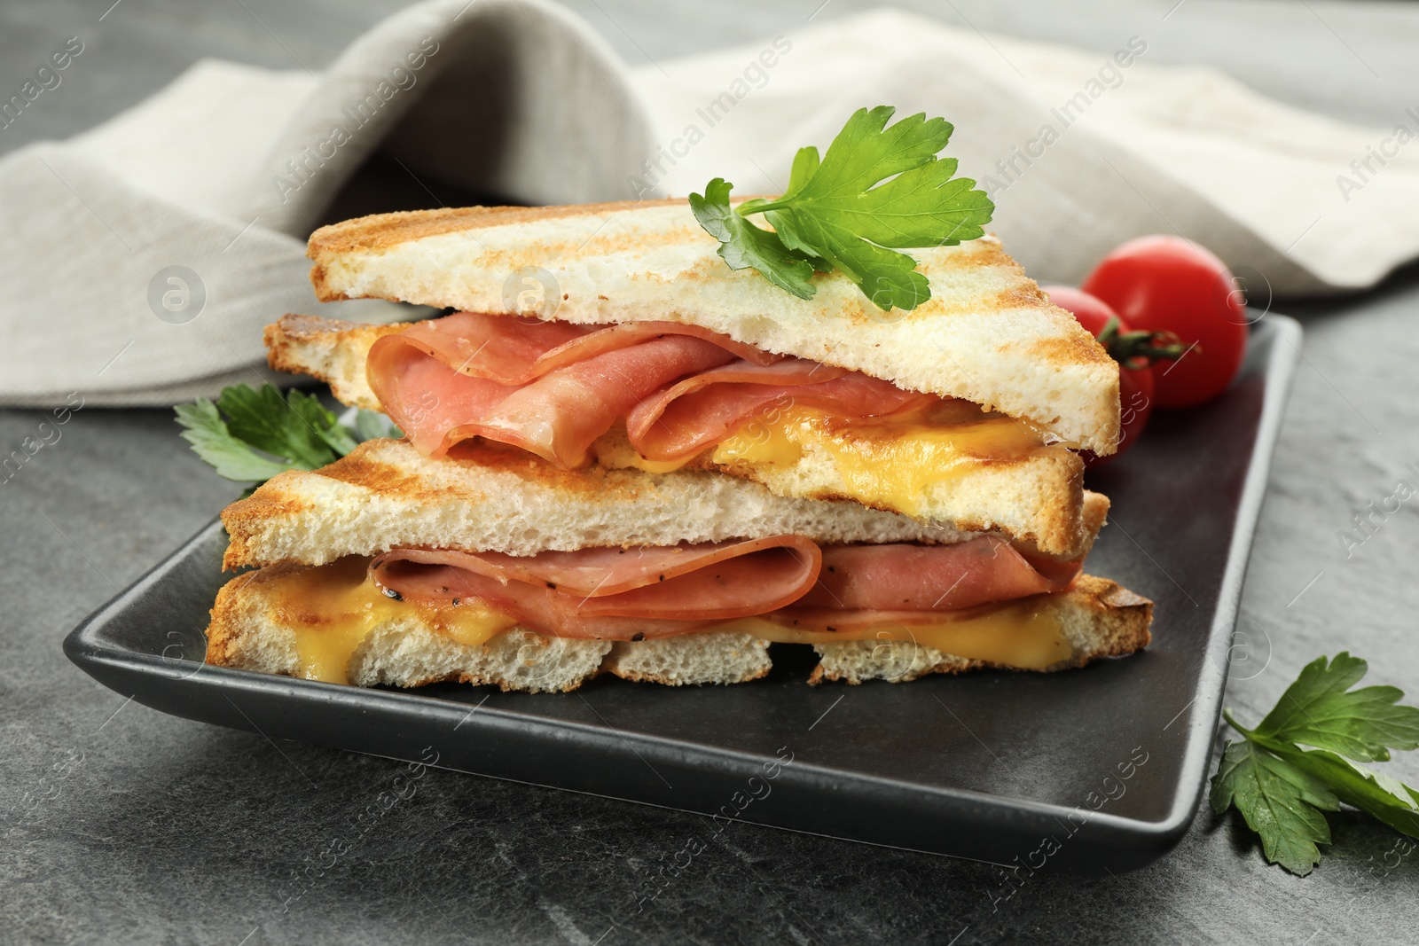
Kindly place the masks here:
POLYGON ((983 235, 934 157, 951 126, 891 113, 772 200, 715 179, 315 231, 322 301, 443 312, 267 328, 274 369, 403 438, 223 513, 248 570, 209 662, 562 692, 745 682, 786 645, 851 684, 1145 647, 1152 603, 1084 574, 1108 501, 1078 451, 1115 450, 1118 366, 983 235))

